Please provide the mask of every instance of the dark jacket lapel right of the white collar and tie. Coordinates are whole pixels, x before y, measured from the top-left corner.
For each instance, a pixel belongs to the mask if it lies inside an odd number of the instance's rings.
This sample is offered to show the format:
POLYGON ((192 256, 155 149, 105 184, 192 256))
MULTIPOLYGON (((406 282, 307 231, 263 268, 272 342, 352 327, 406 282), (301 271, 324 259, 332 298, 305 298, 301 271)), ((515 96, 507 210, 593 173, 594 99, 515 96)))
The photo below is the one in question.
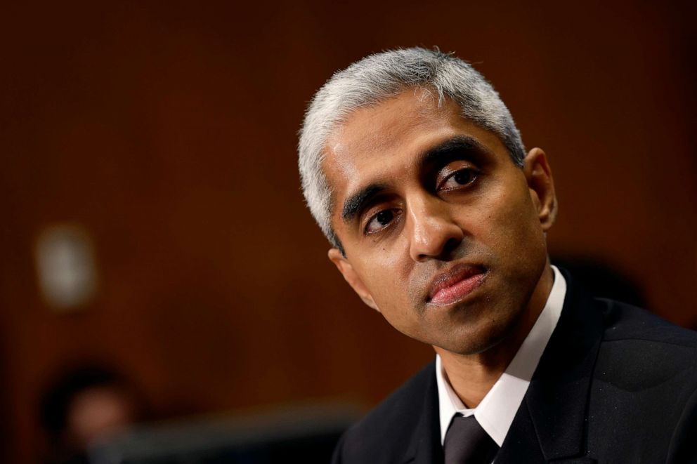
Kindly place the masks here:
POLYGON ((538 459, 526 458, 526 462, 562 458, 575 458, 564 462, 592 462, 583 457, 585 418, 603 319, 594 301, 582 293, 567 273, 564 278, 564 310, 497 456, 497 464, 520 462, 520 452, 525 448, 528 452, 538 448, 541 453, 538 459))

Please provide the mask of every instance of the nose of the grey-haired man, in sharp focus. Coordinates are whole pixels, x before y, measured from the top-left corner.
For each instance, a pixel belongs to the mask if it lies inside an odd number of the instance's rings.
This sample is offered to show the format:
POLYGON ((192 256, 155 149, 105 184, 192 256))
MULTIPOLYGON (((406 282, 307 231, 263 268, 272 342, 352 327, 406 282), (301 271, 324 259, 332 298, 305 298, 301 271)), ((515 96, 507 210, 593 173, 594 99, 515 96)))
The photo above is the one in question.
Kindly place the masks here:
POLYGON ((441 199, 424 195, 408 204, 409 253, 419 263, 432 258, 447 260, 464 239, 464 231, 452 219, 441 199))

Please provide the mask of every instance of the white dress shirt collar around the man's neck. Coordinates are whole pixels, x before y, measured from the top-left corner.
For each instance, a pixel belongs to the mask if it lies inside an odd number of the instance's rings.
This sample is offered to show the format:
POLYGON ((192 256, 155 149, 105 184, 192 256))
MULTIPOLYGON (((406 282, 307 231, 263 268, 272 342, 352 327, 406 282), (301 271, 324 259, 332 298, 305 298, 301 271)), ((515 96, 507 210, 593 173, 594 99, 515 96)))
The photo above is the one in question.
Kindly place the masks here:
POLYGON ((443 370, 441 357, 436 354, 436 382, 438 383, 438 406, 441 417, 441 444, 445 441, 445 432, 448 430, 450 420, 456 413, 462 416, 474 414, 477 422, 496 442, 498 446, 503 444, 513 418, 516 416, 523 397, 528 391, 530 378, 540 362, 542 352, 545 351, 549 338, 559 322, 561 307, 564 306, 566 296, 566 280, 561 272, 552 266, 554 270, 554 285, 549 292, 547 303, 540 312, 538 320, 530 329, 530 333, 516 352, 511 364, 496 381, 491 390, 481 400, 476 408, 469 409, 464 406, 455 394, 448 382, 448 377, 443 370))

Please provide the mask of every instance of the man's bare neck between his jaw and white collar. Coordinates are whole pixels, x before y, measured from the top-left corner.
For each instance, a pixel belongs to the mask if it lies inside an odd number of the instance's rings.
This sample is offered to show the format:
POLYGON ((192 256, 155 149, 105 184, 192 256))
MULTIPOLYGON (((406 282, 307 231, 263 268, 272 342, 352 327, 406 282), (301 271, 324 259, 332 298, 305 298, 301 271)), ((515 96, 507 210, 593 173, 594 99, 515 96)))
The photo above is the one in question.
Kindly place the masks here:
POLYGON ((468 408, 476 408, 511 363, 545 307, 554 284, 549 260, 528 305, 521 312, 512 333, 488 350, 459 354, 434 347, 443 362, 452 390, 468 408))

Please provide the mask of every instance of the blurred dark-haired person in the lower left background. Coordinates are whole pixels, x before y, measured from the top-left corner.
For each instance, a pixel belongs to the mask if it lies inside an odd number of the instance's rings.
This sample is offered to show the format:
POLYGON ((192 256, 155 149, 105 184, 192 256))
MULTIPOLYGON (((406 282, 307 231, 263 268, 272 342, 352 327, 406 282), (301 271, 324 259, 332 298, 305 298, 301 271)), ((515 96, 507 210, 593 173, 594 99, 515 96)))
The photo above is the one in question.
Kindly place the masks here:
POLYGON ((136 388, 121 373, 101 365, 64 371, 41 399, 47 464, 87 463, 87 449, 143 419, 136 388))

